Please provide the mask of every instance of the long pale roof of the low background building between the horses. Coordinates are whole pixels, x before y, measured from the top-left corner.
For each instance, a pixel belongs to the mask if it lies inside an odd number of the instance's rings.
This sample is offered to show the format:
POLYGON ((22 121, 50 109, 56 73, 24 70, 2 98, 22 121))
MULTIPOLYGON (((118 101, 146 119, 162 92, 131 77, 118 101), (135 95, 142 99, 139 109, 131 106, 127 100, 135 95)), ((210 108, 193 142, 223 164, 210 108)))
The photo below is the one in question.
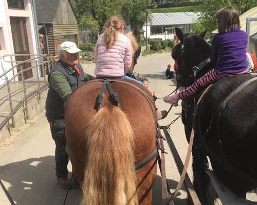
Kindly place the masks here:
POLYGON ((195 24, 199 12, 152 13, 148 26, 195 24))

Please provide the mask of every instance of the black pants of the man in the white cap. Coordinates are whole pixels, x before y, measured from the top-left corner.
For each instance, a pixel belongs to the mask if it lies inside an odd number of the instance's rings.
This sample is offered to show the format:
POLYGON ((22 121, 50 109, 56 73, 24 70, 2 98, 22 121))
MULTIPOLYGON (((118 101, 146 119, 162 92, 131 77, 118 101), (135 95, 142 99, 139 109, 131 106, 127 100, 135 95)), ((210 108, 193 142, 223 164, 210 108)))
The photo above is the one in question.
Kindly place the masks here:
POLYGON ((69 157, 65 151, 64 119, 48 119, 53 140, 56 142, 56 176, 67 177, 69 157))

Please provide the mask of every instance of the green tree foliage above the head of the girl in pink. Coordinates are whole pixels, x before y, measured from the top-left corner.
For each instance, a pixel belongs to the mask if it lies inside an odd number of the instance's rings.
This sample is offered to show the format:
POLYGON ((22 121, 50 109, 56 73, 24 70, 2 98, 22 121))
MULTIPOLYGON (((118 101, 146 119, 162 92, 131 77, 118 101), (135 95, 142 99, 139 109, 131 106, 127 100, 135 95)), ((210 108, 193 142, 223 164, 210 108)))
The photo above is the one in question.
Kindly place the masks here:
MULTIPOLYGON (((99 25, 99 32, 103 32, 104 25, 112 15, 121 15, 127 25, 132 28, 145 22, 146 12, 153 0, 73 0, 75 14, 82 25, 90 12, 99 25)), ((88 16, 90 18, 90 16, 88 16)), ((149 20, 151 16, 149 16, 149 20)))

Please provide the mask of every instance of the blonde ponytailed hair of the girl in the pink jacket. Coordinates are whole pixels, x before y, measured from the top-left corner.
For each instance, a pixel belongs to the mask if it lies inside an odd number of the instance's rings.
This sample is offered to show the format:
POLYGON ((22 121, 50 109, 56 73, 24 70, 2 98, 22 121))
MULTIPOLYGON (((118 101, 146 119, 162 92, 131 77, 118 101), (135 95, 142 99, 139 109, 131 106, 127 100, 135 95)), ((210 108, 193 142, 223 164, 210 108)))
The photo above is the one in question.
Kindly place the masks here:
POLYGON ((107 27, 104 30, 104 43, 107 49, 111 48, 117 40, 118 30, 125 27, 122 16, 116 15, 109 18, 107 27))

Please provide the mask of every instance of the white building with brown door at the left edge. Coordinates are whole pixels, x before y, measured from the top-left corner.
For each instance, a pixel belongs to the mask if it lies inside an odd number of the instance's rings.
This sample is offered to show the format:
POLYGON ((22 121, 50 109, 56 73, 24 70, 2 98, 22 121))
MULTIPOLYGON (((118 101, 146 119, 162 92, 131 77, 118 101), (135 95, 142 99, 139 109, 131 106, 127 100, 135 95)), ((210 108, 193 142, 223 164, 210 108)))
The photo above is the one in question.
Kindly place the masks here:
MULTIPOLYGON (((0 56, 6 54, 37 54, 34 20, 32 14, 32 0, 1 0, 0 1, 0 56)), ((23 61, 30 56, 16 56, 13 60, 23 61)), ((10 61, 10 58, 5 60, 10 61)), ((30 67, 30 63, 24 64, 23 68, 30 67)), ((11 68, 0 57, 0 74, 11 68)), ((19 68, 8 73, 8 77, 20 71, 19 68)), ((35 70, 24 72, 24 77, 36 76, 35 70)), ((20 79, 20 77, 19 77, 20 79)), ((3 79, 0 79, 0 84, 3 79)))

